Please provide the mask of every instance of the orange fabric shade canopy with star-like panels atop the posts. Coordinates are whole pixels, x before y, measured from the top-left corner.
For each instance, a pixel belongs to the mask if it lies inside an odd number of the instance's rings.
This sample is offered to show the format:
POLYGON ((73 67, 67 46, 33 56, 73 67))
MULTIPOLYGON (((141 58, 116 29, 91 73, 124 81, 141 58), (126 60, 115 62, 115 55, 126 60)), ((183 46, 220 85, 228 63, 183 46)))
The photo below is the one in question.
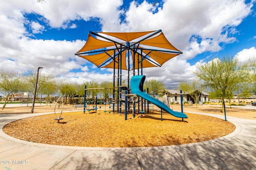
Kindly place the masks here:
POLYGON ((130 33, 90 32, 86 44, 75 55, 98 67, 128 70, 162 66, 180 54, 182 52, 158 30, 130 33))

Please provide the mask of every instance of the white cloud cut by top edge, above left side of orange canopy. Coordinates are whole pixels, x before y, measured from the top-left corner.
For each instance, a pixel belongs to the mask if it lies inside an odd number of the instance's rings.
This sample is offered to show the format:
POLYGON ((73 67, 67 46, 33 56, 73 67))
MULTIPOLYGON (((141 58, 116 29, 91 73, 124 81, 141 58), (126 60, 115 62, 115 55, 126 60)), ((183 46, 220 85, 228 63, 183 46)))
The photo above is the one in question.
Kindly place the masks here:
POLYGON ((102 24, 111 23, 118 26, 120 12, 118 8, 122 5, 122 0, 54 0, 46 3, 36 4, 36 12, 44 16, 51 27, 63 27, 69 20, 100 18, 102 24), (58 8, 56 8, 58 7, 58 8))

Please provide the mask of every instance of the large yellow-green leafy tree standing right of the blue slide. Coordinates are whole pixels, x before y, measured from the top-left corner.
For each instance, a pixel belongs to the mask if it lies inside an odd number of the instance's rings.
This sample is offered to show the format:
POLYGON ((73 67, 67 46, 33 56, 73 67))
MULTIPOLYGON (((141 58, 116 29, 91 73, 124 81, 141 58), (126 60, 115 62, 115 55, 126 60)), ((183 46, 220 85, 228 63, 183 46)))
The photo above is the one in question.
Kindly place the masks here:
POLYGON ((232 92, 245 81, 244 65, 238 59, 224 56, 221 59, 213 59, 207 63, 197 64, 196 76, 203 81, 212 91, 215 91, 222 101, 229 98, 232 92))

